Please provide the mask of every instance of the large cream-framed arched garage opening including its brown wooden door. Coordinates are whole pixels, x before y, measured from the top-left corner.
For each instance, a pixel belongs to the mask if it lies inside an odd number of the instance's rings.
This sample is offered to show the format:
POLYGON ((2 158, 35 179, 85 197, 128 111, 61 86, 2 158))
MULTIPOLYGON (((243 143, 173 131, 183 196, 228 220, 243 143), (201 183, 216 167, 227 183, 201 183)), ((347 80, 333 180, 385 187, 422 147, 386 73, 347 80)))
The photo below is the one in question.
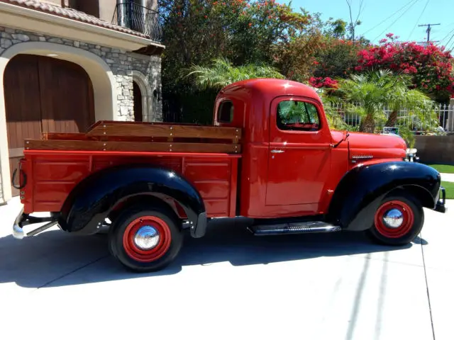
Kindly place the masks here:
POLYGON ((12 134, 9 130, 13 128, 9 125, 14 125, 14 138, 20 141, 39 137, 39 133, 45 130, 83 132, 94 121, 115 120, 117 115, 116 81, 109 65, 93 53, 76 47, 50 42, 13 45, 0 55, 0 90, 0 174, 5 200, 11 198, 13 164, 10 163, 13 161, 10 162, 10 157, 20 157, 21 152, 20 143, 12 145, 10 142, 12 134), (32 72, 28 78, 20 70, 21 67, 32 72), (38 88, 33 89, 33 84, 38 88), (52 98, 52 94, 62 98, 52 98), (31 106, 25 109, 20 107, 38 103, 38 99, 39 106, 33 108, 34 112, 30 112, 31 106), (19 100, 22 103, 14 103, 19 100), (62 112, 74 103, 77 103, 78 110, 62 112), (7 109, 9 112, 6 112, 7 109), (37 122, 38 109, 40 120, 37 122), (24 114, 34 115, 34 120, 17 117, 24 114), (70 118, 70 115, 77 117, 70 118), (22 121, 27 123, 19 123, 22 121), (37 126, 33 128, 33 124, 41 125, 40 132, 37 126), (17 130, 18 125, 21 125, 20 130, 17 130))

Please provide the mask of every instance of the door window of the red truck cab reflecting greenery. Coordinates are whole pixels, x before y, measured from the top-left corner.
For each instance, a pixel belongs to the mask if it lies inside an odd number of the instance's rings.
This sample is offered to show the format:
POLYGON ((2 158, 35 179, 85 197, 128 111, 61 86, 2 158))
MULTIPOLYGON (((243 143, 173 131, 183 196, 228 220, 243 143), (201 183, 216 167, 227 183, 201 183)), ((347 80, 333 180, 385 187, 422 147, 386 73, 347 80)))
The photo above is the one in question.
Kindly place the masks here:
POLYGON ((320 118, 316 106, 304 101, 281 101, 277 105, 277 128, 279 130, 319 130, 320 118))

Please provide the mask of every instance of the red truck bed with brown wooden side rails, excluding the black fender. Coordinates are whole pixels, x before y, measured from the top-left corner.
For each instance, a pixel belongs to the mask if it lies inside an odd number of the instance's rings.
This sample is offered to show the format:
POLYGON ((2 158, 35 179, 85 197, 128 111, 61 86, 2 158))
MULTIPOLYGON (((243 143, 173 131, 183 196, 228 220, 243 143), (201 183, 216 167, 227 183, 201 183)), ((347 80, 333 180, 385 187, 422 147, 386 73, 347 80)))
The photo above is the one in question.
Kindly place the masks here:
MULTIPOLYGON (((26 140, 20 176, 24 212, 58 212, 77 183, 95 171, 140 163, 182 174, 198 189, 209 217, 233 217, 240 137, 236 128, 110 121, 87 133, 44 133, 40 140, 26 140)), ((175 210, 184 217, 180 207, 175 210)))

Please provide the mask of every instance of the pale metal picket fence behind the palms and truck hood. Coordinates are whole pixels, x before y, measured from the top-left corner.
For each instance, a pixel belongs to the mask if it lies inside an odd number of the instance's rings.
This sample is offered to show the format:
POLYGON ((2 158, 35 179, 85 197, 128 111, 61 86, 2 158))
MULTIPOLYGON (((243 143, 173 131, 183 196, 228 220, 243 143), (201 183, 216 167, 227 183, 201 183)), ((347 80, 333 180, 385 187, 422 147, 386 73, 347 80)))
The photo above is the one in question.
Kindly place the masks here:
MULTIPOLYGON (((361 123, 361 115, 358 113, 361 106, 358 103, 336 102, 325 103, 324 106, 328 106, 328 108, 340 114, 348 125, 356 127, 361 123)), ((382 111, 384 113, 383 121, 381 122, 382 124, 379 123, 378 125, 384 125, 391 113, 391 110, 387 107, 383 107, 382 111)), ((437 103, 433 106, 433 114, 437 119, 436 123, 438 123, 438 126, 435 129, 427 128, 425 124, 419 120, 417 115, 407 109, 399 111, 397 113, 397 119, 399 123, 403 123, 415 132, 454 132, 454 105, 437 103)))

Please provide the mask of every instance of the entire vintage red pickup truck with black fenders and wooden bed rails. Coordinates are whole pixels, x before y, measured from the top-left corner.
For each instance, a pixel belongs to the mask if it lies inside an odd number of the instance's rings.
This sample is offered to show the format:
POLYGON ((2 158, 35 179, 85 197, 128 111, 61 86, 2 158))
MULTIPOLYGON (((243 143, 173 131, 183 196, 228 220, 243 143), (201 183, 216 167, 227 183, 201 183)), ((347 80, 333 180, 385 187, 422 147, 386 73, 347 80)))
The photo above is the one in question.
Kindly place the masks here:
POLYGON ((440 174, 405 162, 401 137, 331 131, 319 96, 294 81, 226 86, 213 126, 101 121, 25 145, 14 237, 107 225, 111 254, 133 271, 167 266, 185 230, 203 237, 214 217, 250 217, 256 235, 355 231, 402 245, 423 207, 445 212, 440 174))

